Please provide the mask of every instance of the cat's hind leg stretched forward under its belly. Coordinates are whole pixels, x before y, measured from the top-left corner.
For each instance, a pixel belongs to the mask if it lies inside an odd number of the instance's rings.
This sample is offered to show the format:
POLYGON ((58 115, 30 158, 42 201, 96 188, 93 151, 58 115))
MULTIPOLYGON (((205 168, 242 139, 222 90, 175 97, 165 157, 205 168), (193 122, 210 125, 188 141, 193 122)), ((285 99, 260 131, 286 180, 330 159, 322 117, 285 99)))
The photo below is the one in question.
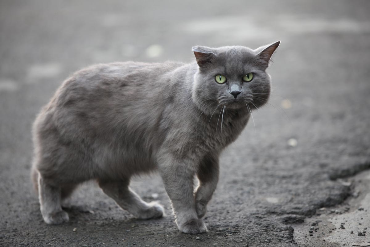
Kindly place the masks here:
POLYGON ((129 180, 98 181, 100 188, 122 209, 139 219, 160 218, 164 215, 163 207, 157 202, 146 203, 129 187, 129 180))

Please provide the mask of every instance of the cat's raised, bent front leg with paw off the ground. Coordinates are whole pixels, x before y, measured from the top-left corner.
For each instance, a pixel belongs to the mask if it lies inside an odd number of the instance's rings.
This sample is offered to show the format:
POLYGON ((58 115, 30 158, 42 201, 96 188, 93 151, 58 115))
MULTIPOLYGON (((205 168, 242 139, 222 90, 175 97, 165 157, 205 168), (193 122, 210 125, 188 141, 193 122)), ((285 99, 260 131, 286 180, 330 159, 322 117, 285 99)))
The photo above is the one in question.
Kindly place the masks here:
POLYGON ((199 186, 195 192, 195 209, 198 218, 202 218, 207 211, 207 204, 211 200, 218 183, 218 155, 205 156, 199 164, 197 176, 199 186))

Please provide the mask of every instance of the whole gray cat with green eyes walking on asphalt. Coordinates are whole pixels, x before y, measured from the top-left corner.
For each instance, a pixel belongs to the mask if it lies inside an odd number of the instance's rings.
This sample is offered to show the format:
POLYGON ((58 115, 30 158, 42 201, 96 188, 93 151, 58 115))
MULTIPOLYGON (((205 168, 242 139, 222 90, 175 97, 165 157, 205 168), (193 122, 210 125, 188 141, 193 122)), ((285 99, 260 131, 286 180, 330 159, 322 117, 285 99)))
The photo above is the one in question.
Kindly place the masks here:
POLYGON ((32 177, 44 221, 68 221, 61 201, 87 180, 135 217, 161 217, 161 205, 129 188, 133 175, 158 170, 179 230, 206 232, 219 155, 268 101, 266 69, 279 43, 196 46, 190 64, 98 64, 65 80, 33 126, 32 177))

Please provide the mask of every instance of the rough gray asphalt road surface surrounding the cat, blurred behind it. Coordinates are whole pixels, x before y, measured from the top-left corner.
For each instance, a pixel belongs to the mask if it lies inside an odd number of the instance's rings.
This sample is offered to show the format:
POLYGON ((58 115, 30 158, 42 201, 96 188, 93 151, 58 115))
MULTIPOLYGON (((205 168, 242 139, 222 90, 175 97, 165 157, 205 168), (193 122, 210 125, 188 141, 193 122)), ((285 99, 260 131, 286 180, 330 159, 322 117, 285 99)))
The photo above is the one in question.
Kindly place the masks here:
POLYGON ((370 229, 370 1, 0 1, 0 61, 0 246, 370 241, 357 234, 370 229), (191 61, 196 44, 276 40, 270 105, 222 154, 207 234, 179 233, 157 176, 132 187, 164 204, 163 219, 136 220, 90 183, 71 199, 70 223, 43 223, 30 128, 65 77, 93 63, 191 61))

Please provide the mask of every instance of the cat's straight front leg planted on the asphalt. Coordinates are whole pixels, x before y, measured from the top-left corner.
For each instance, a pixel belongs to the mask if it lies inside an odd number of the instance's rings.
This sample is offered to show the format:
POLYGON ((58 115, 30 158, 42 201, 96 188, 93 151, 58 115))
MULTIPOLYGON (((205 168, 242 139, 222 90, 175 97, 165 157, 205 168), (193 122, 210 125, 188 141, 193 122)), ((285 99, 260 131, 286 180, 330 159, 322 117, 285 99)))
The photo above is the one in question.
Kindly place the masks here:
POLYGON ((159 164, 179 230, 189 234, 205 233, 207 227, 203 220, 198 218, 195 210, 195 163, 192 160, 179 160, 171 154, 162 154, 159 164))

